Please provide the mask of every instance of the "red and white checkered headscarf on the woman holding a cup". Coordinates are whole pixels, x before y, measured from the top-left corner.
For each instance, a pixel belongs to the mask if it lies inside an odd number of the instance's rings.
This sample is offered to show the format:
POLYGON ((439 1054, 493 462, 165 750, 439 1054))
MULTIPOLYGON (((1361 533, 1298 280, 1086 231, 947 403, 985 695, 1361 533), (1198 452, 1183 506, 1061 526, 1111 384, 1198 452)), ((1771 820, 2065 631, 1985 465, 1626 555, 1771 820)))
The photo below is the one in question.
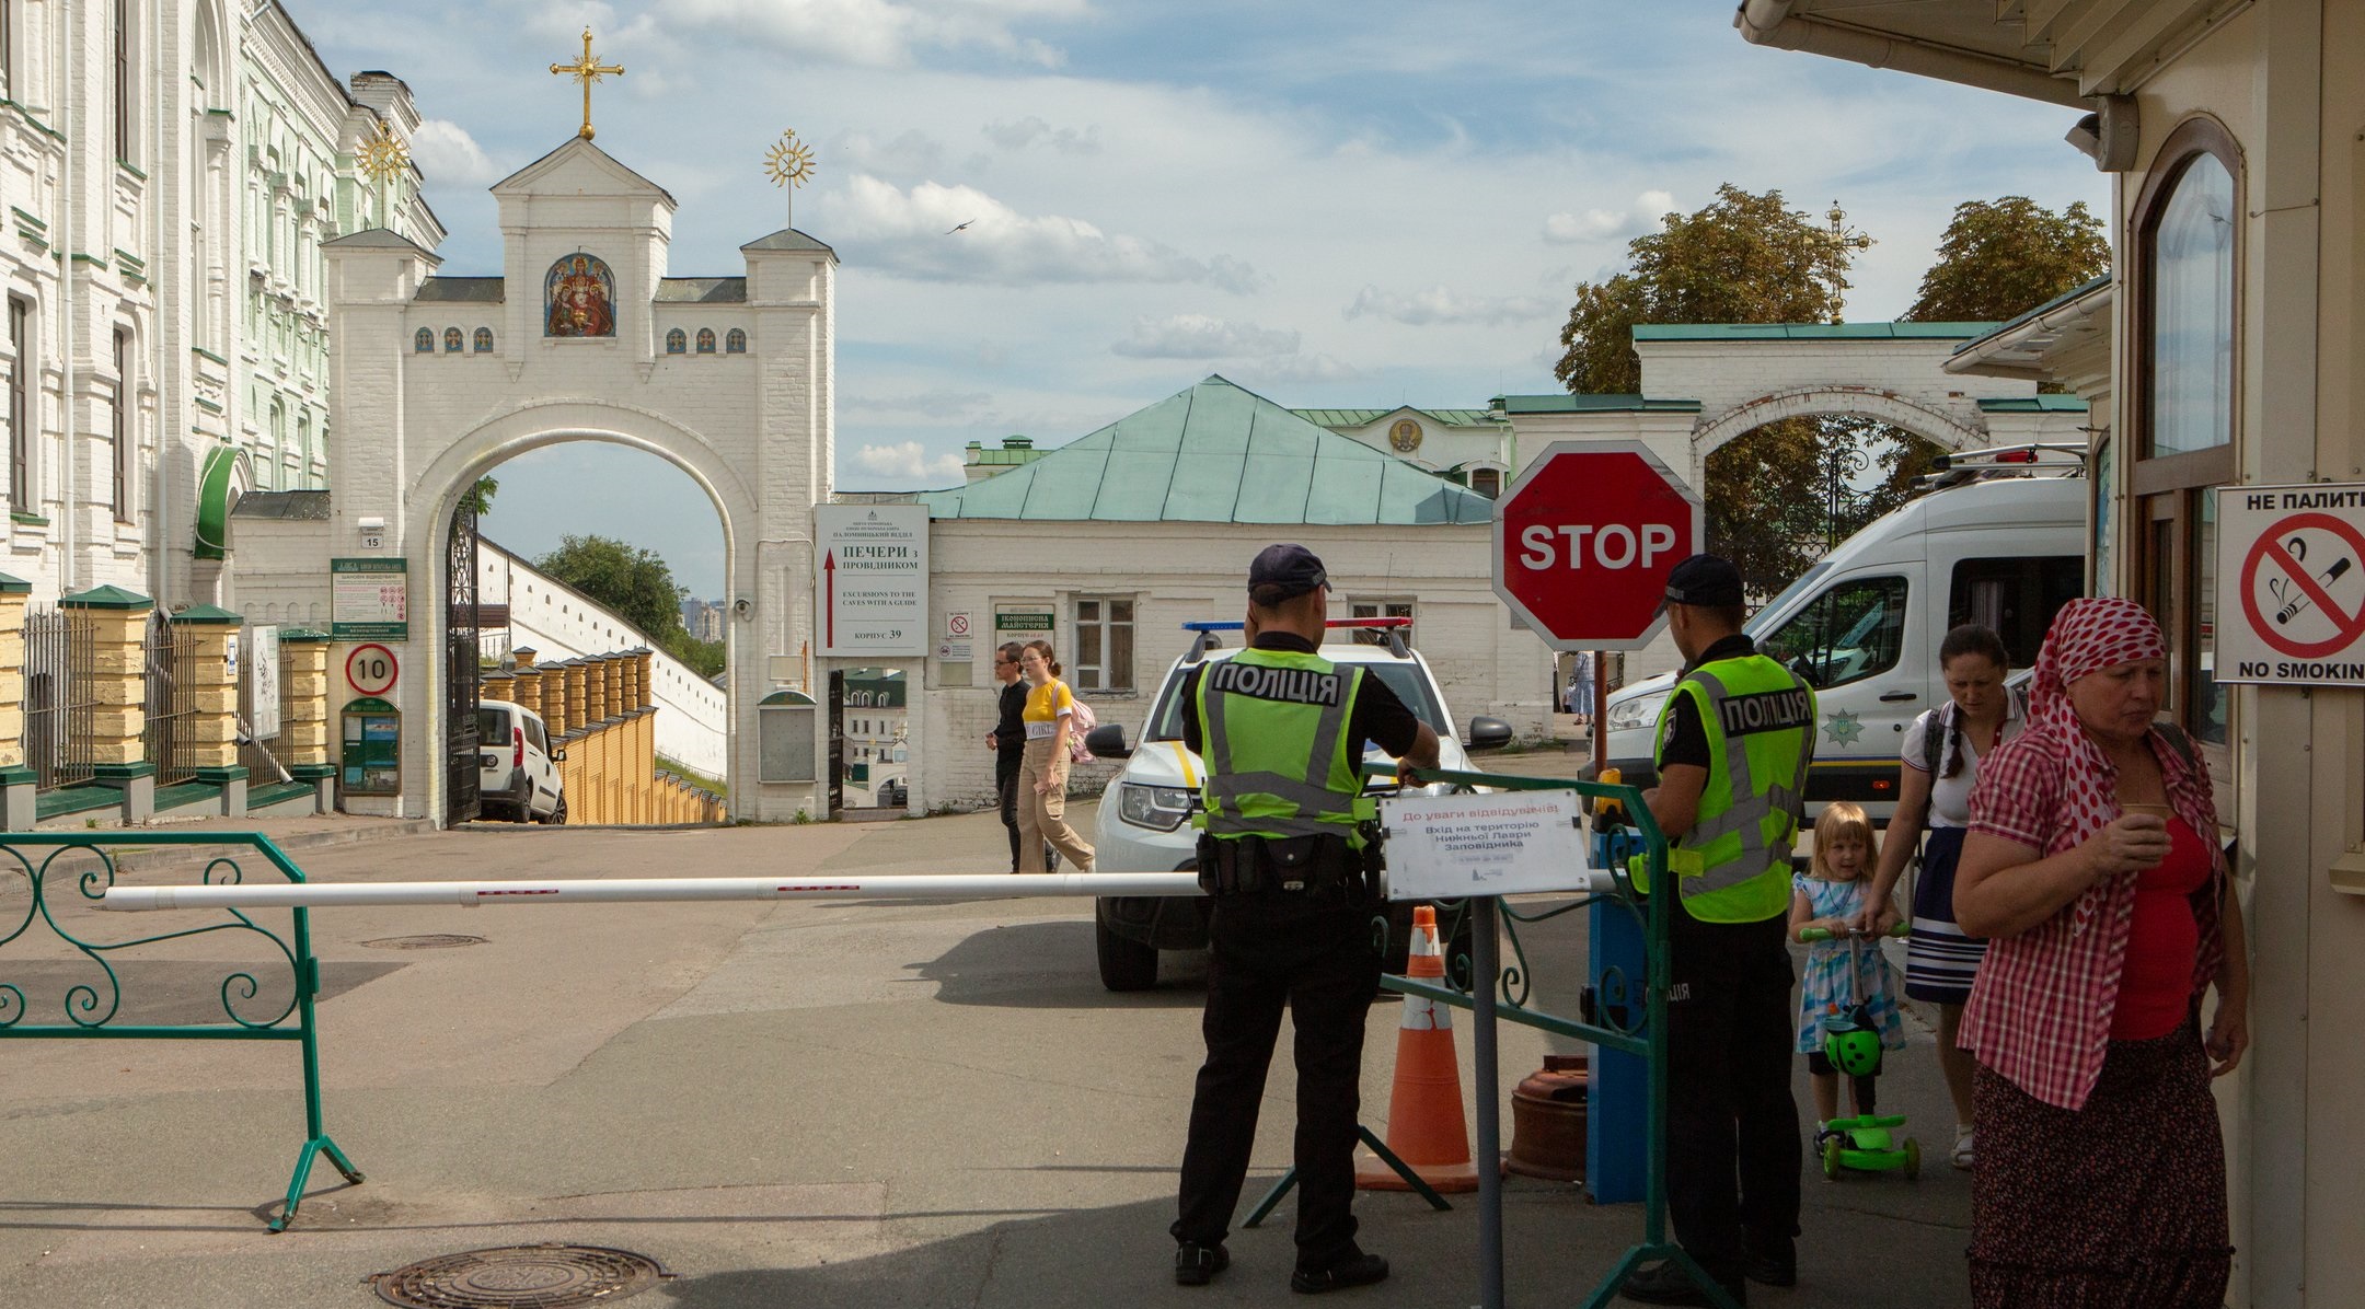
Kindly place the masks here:
MULTIPOLYGON (((2076 841, 2119 818, 2119 796, 2102 747, 2076 721, 2069 683, 2138 659, 2166 659, 2166 654, 2169 640, 2159 633, 2152 614, 2121 598, 2069 600, 2053 617, 2053 629, 2046 631, 2046 647, 2036 654, 2036 676, 2029 683, 2029 730, 2048 737, 2046 744, 2069 763, 2062 818, 2076 841)), ((2173 756, 2176 751, 2157 754, 2173 756)), ((2181 763, 2181 756, 2173 763, 2162 758, 2169 803, 2185 820, 2185 827, 2216 846, 2216 803, 2209 796, 2209 775, 2199 766, 2183 770, 2181 763)))

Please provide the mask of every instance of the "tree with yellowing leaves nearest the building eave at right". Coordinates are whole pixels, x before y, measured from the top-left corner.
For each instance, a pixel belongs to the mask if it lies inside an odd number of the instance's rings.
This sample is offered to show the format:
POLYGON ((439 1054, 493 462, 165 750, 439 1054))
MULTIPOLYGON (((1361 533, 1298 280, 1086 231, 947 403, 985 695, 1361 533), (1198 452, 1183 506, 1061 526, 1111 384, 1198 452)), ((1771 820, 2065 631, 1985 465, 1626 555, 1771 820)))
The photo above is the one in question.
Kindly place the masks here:
POLYGON ((2110 272, 2102 220, 2072 201, 2053 213, 2027 196, 1963 201, 1906 319, 1994 324, 2110 272))

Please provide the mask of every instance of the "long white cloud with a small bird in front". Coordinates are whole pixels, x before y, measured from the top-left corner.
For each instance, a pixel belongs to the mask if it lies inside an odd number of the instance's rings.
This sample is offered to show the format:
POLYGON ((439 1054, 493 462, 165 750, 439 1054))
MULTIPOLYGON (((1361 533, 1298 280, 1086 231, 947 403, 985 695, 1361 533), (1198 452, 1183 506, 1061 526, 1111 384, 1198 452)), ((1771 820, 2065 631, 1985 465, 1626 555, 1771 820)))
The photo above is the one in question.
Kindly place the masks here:
POLYGON ((920 182, 911 191, 856 175, 821 196, 828 229, 868 265, 932 281, 1036 286, 1057 281, 1187 281, 1251 293, 1263 281, 1230 255, 1194 258, 1142 236, 1114 236, 1064 215, 1022 215, 974 187, 920 182), (958 232, 955 232, 958 229, 958 232))

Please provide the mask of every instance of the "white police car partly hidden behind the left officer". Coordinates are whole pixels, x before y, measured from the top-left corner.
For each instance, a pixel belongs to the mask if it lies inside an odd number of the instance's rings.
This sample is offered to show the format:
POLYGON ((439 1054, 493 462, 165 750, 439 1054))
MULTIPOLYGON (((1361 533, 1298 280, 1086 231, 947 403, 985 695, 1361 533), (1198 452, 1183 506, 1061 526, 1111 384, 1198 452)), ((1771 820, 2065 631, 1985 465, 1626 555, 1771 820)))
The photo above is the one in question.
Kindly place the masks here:
MULTIPOLYGON (((1400 629, 1410 619, 1334 619, 1329 626, 1369 633, 1367 640, 1322 645, 1322 657, 1353 664, 1376 676, 1412 714, 1438 732, 1438 766, 1469 768, 1464 740, 1457 740, 1445 697, 1428 664, 1405 645, 1400 629)), ((1104 723, 1086 737, 1102 758, 1123 758, 1126 770, 1100 796, 1093 829, 1093 872, 1190 872, 1199 867, 1199 834, 1190 825, 1199 808, 1199 784, 1206 777, 1199 756, 1182 749, 1182 678, 1204 664, 1230 659, 1223 633, 1242 624, 1182 624, 1194 633, 1187 654, 1166 669, 1166 680, 1149 702, 1149 718, 1128 735, 1121 723, 1104 723)), ((1237 638, 1237 636, 1235 636, 1237 638)), ((1502 718, 1471 718, 1469 749, 1509 744, 1511 725, 1502 718)), ((1393 758, 1365 742, 1367 763, 1393 758)), ((1386 782, 1372 789, 1393 792, 1386 782)), ((1100 955, 1100 983, 1109 990, 1145 990, 1159 981, 1159 950, 1206 950, 1204 896, 1102 896, 1095 900, 1093 938, 1100 955)), ((1405 914, 1410 921, 1410 907, 1405 914)), ((1402 931, 1391 950, 1400 950, 1402 931)))

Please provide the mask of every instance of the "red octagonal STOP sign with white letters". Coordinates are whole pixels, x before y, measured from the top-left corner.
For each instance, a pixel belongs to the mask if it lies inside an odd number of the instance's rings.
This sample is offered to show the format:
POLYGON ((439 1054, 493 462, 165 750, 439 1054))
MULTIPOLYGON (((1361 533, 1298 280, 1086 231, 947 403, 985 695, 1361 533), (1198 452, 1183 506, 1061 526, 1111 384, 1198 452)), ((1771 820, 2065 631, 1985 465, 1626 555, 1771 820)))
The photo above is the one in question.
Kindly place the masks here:
POLYGON ((1495 593, 1554 650, 1639 650, 1705 517, 1644 442, 1554 442, 1495 501, 1495 593))

